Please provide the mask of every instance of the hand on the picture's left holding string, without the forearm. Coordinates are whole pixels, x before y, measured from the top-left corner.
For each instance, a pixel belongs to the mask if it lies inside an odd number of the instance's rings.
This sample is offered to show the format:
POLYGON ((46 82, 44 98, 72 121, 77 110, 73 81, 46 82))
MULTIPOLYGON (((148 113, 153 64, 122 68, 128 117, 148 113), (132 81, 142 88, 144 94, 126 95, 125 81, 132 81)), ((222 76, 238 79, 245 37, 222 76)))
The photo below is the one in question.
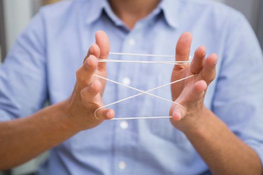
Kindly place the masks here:
POLYGON ((102 95, 106 81, 99 79, 93 74, 106 77, 106 63, 98 62, 98 58, 107 59, 110 42, 108 36, 103 31, 97 31, 96 44, 92 44, 84 58, 83 65, 77 70, 77 81, 72 96, 68 99, 67 108, 70 117, 73 118, 73 126, 81 130, 95 127, 105 119, 114 117, 114 110, 102 108, 94 112, 103 105, 102 95))

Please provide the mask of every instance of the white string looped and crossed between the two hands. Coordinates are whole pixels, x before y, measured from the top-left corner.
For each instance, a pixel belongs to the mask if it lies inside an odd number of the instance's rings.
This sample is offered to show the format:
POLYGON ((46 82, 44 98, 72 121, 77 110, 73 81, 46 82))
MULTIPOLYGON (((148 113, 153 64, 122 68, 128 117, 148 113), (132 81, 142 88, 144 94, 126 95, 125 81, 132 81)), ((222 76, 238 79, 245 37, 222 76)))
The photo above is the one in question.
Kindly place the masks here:
MULTIPOLYGON (((160 54, 138 54, 138 53, 120 53, 120 52, 110 52, 109 54, 114 54, 114 55, 132 55, 132 56, 155 56, 155 57, 174 57, 172 55, 160 55, 160 54)), ((189 59, 191 59, 191 57, 189 57, 189 59)), ((174 65, 182 65, 182 64, 187 64, 187 63, 190 63, 191 61, 190 60, 186 60, 186 61, 140 61, 140 60, 117 60, 117 59, 99 59, 98 60, 99 62, 129 62, 129 63, 162 63, 162 64, 174 64, 174 65)), ((154 96, 156 98, 159 98, 159 99, 162 99, 162 100, 165 100, 165 101, 169 101, 171 103, 174 103, 174 104, 177 104, 179 106, 181 106, 182 108, 185 109, 185 107, 183 105, 181 105, 180 103, 178 102, 175 102, 175 101, 172 101, 172 100, 169 100, 167 98, 163 98, 161 96, 157 96, 155 94, 152 94, 152 93, 149 93, 150 91, 153 91, 153 90, 156 90, 156 89, 159 89, 161 87, 164 87, 164 86, 167 86, 167 85, 171 85, 171 84, 174 84, 176 82, 179 82, 179 81, 182 81, 182 80, 185 80, 185 79, 188 79, 188 78, 191 78, 193 76, 195 76, 196 74, 194 75, 189 75, 189 76, 186 76, 184 78, 181 78, 181 79, 178 79, 178 80, 175 80, 175 81, 172 81, 172 82, 169 82, 169 83, 166 83, 166 84, 163 84, 163 85, 160 85, 160 86, 157 86, 155 88, 152 88, 152 89, 149 89, 149 90, 140 90, 138 88, 135 88, 135 87, 132 87, 132 86, 129 86, 129 85, 126 85, 126 84, 123 84, 123 83, 120 83, 120 82, 117 82, 117 81, 114 81, 112 79, 108 79, 108 78, 105 78, 103 76, 100 76, 100 75, 97 75, 97 74, 93 74, 94 76, 98 77, 98 78, 102 78, 102 79, 105 79, 107 81, 110 81, 110 82, 113 82, 113 83, 116 83, 116 84, 119 84, 119 85, 122 85, 122 86, 125 86, 125 87, 128 87, 130 89, 133 89, 133 90, 136 90, 136 91, 139 91, 140 93, 137 93, 135 95, 132 95, 132 96, 128 96, 126 98, 122 98, 120 100, 117 100, 115 102, 112 102, 112 103, 109 103, 109 104, 106 104, 106 105, 103 105, 99 108, 97 108, 94 112, 94 115, 95 115, 95 118, 99 119, 96 115, 96 112, 101 109, 101 108, 104 108, 104 107, 108 107, 110 105, 113 105, 113 104, 117 104, 119 102, 122 102, 122 101, 125 101, 125 100, 128 100, 130 98, 134 98, 136 96, 139 96, 139 95, 142 95, 142 94, 148 94, 148 95, 151 95, 151 96, 154 96)), ((112 118, 111 120, 120 120, 120 119, 153 119, 153 118, 171 118, 172 116, 147 116, 147 117, 118 117, 118 118, 112 118)))

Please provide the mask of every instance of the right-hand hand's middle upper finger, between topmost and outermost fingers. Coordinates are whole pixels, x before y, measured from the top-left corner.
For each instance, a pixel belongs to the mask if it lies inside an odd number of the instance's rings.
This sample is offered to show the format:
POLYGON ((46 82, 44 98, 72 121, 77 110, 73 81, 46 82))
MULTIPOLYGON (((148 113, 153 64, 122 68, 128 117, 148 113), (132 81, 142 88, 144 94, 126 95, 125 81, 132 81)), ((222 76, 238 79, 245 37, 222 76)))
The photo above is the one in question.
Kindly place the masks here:
POLYGON ((206 50, 204 46, 198 47, 194 52, 193 60, 190 64, 190 71, 192 74, 200 73, 205 60, 206 50))

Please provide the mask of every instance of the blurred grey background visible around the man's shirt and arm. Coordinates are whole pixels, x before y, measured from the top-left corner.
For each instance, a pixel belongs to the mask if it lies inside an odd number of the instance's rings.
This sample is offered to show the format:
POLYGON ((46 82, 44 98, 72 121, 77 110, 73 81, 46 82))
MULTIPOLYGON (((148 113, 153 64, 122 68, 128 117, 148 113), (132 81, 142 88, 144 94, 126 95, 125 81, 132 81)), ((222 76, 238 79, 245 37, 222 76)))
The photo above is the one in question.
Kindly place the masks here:
MULTIPOLYGON (((43 5, 60 0, 0 0, 0 60, 3 61, 16 37, 43 5)), ((263 0, 209 0, 218 1, 241 11, 252 25, 263 48, 263 0)), ((0 61, 0 63, 1 63, 0 61)), ((1 144, 1 141, 0 141, 1 144)), ((24 145, 27 146, 27 145, 24 145)), ((34 174, 48 152, 16 168, 0 171, 3 174, 34 174)))

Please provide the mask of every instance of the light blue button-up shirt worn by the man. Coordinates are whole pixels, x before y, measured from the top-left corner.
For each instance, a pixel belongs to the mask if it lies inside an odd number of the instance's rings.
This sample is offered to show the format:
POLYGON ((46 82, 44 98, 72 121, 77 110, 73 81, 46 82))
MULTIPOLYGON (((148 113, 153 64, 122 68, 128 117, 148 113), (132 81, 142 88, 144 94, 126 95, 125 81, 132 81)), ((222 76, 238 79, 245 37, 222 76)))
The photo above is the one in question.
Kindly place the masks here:
MULTIPOLYGON (((219 55, 216 79, 205 105, 263 158, 263 62, 246 19, 223 4, 162 0, 133 29, 113 13, 107 0, 70 0, 43 7, 19 36, 0 67, 0 119, 28 116, 47 99, 67 99, 94 34, 104 30, 111 51, 174 54, 178 37, 193 34, 219 55)), ((124 60, 166 60, 110 56, 124 60)), ((172 59, 169 59, 172 60, 172 59)), ((172 65, 107 63, 108 78, 147 90, 170 81, 172 65)), ((107 82, 105 104, 137 93, 107 82)), ((171 99, 170 87, 153 91, 171 99)), ((171 103, 140 95, 111 106, 116 117, 167 116, 171 103)), ((207 130, 209 132, 209 130, 207 130)), ((222 143, 224 144, 224 143, 222 143)), ((21 145, 26 146, 26 145, 21 145)), ((201 174, 208 167, 169 119, 109 120, 77 133, 51 150, 44 174, 201 174)))

